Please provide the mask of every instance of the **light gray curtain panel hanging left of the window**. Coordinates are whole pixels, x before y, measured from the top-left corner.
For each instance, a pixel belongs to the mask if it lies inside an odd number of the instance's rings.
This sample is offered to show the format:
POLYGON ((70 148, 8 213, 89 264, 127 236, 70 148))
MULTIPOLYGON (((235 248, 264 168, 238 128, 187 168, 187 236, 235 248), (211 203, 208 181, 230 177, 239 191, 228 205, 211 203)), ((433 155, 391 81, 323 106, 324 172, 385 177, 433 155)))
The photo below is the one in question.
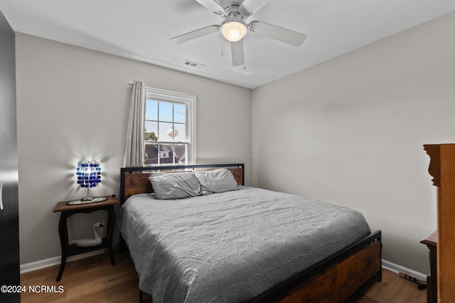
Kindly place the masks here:
POLYGON ((123 167, 144 166, 144 132, 145 132, 145 89, 144 82, 133 82, 127 143, 123 158, 123 167))

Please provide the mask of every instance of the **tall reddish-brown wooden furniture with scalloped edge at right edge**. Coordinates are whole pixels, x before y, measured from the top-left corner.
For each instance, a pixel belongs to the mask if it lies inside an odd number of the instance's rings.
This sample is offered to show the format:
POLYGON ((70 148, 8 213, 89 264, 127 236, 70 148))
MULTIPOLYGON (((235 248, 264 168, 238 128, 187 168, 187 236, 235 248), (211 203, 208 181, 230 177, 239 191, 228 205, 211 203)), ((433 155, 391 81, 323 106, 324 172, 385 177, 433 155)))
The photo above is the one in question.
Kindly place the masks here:
POLYGON ((437 299, 455 298, 455 144, 424 145, 429 174, 437 187, 437 299))

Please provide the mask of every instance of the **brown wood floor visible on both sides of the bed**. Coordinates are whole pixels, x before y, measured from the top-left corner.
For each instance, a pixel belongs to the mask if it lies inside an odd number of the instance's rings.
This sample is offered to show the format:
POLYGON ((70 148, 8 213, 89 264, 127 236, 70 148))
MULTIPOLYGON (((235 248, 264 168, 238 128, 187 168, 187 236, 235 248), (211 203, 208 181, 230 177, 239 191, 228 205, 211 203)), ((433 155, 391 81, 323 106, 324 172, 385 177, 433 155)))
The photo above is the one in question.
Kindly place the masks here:
MULTIPOLYGON (((21 302, 139 302, 139 280, 128 252, 116 253, 115 260, 117 265, 112 266, 109 255, 103 254, 67 263, 60 282, 55 282, 57 265, 22 274, 21 285, 27 292, 21 294, 21 302), (28 287, 43 291, 32 293, 28 287)), ((144 295, 144 302, 151 303, 150 297, 144 295)), ((418 290, 413 282, 383 270, 382 282, 375 283, 357 303, 408 302, 427 302, 427 290, 418 290)))

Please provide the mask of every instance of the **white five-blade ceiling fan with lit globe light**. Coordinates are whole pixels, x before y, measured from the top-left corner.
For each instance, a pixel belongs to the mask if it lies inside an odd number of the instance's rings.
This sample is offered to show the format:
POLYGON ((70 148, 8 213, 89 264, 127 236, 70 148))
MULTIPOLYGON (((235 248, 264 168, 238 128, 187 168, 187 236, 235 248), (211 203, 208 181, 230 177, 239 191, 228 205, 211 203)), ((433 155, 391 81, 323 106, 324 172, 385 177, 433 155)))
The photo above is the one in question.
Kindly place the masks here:
POLYGON ((294 46, 301 45, 306 38, 306 35, 303 33, 297 33, 296 31, 274 26, 269 23, 260 21, 251 21, 250 24, 245 23, 248 17, 259 11, 259 9, 262 9, 270 0, 219 0, 219 4, 214 0, 196 1, 225 20, 219 26, 207 26, 196 31, 178 35, 170 40, 180 44, 202 37, 203 35, 220 31, 223 37, 230 41, 232 65, 234 66, 245 64, 243 38, 248 32, 264 35, 294 46))

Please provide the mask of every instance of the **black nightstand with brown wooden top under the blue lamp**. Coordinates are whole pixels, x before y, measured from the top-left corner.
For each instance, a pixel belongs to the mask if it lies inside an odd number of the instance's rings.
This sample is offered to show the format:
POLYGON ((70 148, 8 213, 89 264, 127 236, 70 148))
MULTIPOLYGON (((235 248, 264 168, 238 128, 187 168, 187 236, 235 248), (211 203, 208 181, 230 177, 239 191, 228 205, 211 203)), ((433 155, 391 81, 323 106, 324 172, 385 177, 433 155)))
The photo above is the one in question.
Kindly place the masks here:
POLYGON ((87 253, 92 250, 98 250, 101 248, 109 249, 109 256, 111 258, 112 265, 115 265, 114 253, 112 251, 112 236, 114 235, 115 226, 115 204, 119 204, 119 200, 116 197, 107 197, 107 200, 103 202, 79 204, 79 205, 67 205, 67 202, 58 202, 55 205, 53 212, 60 212, 60 221, 58 221, 58 235, 60 236, 60 246, 62 247, 62 261, 60 263, 60 270, 57 275, 57 282, 60 281, 65 269, 66 258, 70 255, 77 255, 79 253, 87 253), (93 211, 105 210, 108 213, 107 219, 107 237, 102 238, 102 243, 98 246, 92 247, 79 247, 75 244, 69 245, 68 243, 68 226, 66 220, 73 214, 80 213, 92 213, 93 211))

